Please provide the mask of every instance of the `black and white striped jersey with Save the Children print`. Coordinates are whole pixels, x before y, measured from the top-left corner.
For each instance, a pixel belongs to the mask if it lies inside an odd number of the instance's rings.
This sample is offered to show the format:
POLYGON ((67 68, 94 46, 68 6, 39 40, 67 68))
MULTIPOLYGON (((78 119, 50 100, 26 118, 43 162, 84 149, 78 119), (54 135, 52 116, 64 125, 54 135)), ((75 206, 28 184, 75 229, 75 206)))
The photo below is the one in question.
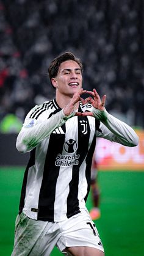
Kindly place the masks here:
MULTIPOLYGON (((92 111, 92 105, 80 103, 79 112, 85 111, 92 111)), ((20 213, 59 222, 85 209, 96 137, 129 146, 137 140, 128 125, 105 114, 102 122, 91 116, 67 118, 56 100, 35 106, 27 114, 16 142, 21 152, 31 151, 20 213)))

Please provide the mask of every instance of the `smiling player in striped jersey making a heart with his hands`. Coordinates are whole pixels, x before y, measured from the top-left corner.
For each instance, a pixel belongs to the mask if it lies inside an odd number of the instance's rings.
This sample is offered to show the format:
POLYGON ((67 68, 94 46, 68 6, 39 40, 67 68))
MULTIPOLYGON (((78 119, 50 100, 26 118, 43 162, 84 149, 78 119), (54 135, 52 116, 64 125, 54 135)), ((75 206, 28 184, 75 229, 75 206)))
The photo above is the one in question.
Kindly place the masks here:
POLYGON ((82 64, 72 53, 48 69, 56 98, 35 106, 24 121, 16 147, 30 152, 16 218, 12 255, 104 256, 85 201, 96 137, 129 147, 138 144, 131 127, 108 114, 95 89, 82 89, 82 64), (90 93, 82 100, 82 93, 90 93))

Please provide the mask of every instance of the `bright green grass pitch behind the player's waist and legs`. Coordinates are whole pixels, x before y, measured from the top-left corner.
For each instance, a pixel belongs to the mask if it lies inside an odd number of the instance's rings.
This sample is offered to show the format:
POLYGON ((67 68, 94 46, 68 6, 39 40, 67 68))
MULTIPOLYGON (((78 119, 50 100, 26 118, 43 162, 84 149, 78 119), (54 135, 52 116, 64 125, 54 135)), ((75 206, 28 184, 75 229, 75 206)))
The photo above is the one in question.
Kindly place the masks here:
MULTIPOLYGON (((0 168, 0 255, 10 256, 24 169, 0 168)), ((144 244, 144 172, 98 174, 101 218, 95 222, 106 256, 141 256, 144 244)), ((87 202, 92 207, 91 195, 87 202)), ((62 255, 56 248, 51 256, 62 255)), ((36 256, 36 255, 35 255, 36 256)), ((38 255, 39 256, 39 255, 38 255)))

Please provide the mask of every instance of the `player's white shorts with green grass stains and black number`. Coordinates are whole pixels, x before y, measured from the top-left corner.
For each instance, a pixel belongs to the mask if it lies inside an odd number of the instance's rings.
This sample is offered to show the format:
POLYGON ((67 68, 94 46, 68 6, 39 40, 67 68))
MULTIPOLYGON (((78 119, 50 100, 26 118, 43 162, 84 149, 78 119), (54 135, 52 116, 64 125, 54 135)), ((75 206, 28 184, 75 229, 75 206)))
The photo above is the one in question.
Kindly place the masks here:
POLYGON ((62 222, 35 221, 24 213, 17 216, 12 256, 48 256, 54 246, 61 252, 65 247, 75 246, 94 247, 104 252, 88 211, 62 222))

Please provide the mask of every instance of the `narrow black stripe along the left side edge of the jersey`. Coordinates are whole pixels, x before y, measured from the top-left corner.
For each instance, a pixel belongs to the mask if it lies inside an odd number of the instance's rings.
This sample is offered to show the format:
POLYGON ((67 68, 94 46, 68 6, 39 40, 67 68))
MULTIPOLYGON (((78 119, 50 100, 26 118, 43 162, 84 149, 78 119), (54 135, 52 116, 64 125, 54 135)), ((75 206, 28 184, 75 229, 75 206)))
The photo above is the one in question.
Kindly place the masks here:
POLYGON ((21 188, 21 198, 20 198, 20 206, 19 206, 19 214, 23 211, 24 208, 24 199, 26 196, 26 183, 27 183, 27 175, 29 172, 29 168, 34 166, 35 164, 35 148, 31 151, 29 163, 27 164, 26 170, 24 172, 23 185, 21 188))

